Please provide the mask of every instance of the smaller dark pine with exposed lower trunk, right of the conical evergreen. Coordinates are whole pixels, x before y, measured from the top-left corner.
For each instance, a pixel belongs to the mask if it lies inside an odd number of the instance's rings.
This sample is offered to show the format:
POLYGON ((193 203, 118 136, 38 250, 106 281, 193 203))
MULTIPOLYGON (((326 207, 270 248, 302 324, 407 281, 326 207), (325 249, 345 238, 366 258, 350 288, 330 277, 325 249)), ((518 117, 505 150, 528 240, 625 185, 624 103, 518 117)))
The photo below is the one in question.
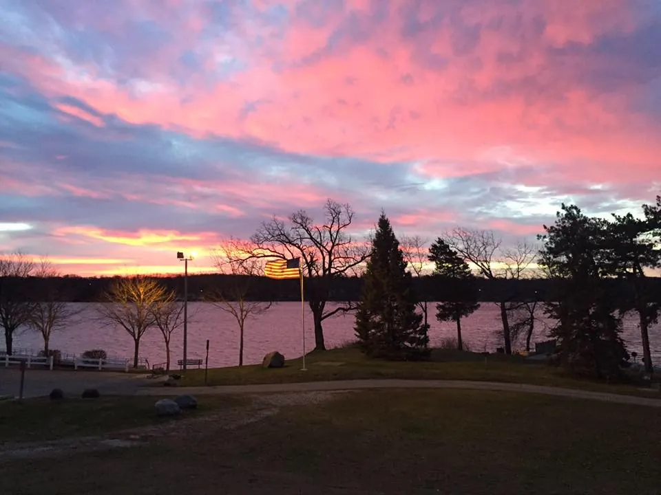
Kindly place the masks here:
POLYGON ((476 278, 468 263, 440 237, 429 248, 429 261, 436 265, 434 274, 445 278, 452 285, 448 300, 436 305, 436 318, 457 323, 457 349, 462 351, 461 318, 480 307, 477 302, 476 278))

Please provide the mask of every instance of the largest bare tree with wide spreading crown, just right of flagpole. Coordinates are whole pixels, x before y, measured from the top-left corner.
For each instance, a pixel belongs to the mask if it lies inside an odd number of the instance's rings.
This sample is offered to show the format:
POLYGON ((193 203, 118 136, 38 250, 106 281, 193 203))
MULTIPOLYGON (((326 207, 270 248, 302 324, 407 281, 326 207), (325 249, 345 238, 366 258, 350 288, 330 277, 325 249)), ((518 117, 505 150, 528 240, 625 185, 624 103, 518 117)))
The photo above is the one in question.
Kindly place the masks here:
POLYGON ((277 217, 265 221, 251 236, 252 246, 242 256, 243 263, 255 258, 301 258, 304 276, 310 278, 306 297, 312 310, 317 350, 326 349, 324 320, 356 309, 350 301, 326 309, 333 298, 333 279, 357 274, 370 253, 368 243, 357 243, 349 234, 354 218, 350 205, 328 199, 323 209, 322 223, 315 222, 305 210, 291 214, 287 221, 277 217))

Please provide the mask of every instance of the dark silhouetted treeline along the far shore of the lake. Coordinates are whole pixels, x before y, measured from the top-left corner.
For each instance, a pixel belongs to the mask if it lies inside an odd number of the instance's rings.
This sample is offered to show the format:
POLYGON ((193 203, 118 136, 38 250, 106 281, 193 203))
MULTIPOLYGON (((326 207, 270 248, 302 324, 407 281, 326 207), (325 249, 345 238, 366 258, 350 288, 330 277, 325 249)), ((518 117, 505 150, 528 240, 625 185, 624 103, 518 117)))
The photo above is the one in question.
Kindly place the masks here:
MULTIPOLYGON (((57 278, 59 290, 55 292, 61 300, 75 303, 94 303, 101 300, 102 295, 118 277, 80 277, 62 276, 57 278)), ((183 276, 155 276, 168 289, 174 289, 180 298, 184 296, 183 276)), ((237 285, 237 279, 242 279, 241 285, 249 287, 246 300, 264 301, 295 301, 300 300, 300 284, 296 280, 275 281, 262 276, 241 276, 227 274, 198 274, 188 276, 188 299, 205 300, 207 296, 225 292, 237 285), (248 282, 245 284, 244 282, 248 282)), ((8 283, 9 281, 6 281, 8 283)), ((38 300, 46 287, 52 289, 52 279, 45 284, 39 277, 22 278, 12 281, 15 297, 23 300, 38 300)), ((554 294, 563 292, 563 281, 547 278, 523 279, 486 279, 476 280, 478 300, 480 302, 499 301, 549 301, 554 294)), ((631 290, 625 281, 605 279, 600 283, 608 289, 615 298, 626 298, 631 290)), ((456 298, 457 282, 452 278, 441 276, 420 276, 412 279, 412 286, 420 300, 439 301, 456 298)), ((360 298, 363 278, 336 277, 330 280, 321 278, 306 278, 304 292, 306 300, 316 292, 328 290, 328 300, 334 302, 355 301, 360 298)), ((646 287, 649 300, 661 303, 661 277, 649 278, 646 287)))

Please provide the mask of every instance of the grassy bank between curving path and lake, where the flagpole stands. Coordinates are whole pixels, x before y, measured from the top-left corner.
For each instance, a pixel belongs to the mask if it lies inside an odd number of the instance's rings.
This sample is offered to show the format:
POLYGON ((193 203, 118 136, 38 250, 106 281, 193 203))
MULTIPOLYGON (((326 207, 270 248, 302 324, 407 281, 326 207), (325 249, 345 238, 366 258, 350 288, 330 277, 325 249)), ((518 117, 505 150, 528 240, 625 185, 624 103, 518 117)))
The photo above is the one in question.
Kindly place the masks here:
MULTIPOLYGON (((244 385, 266 383, 318 382, 324 380, 360 380, 400 378, 410 380, 476 380, 483 382, 525 383, 534 385, 582 388, 591 391, 626 393, 659 397, 659 393, 641 392, 636 386, 609 385, 578 380, 544 362, 521 356, 494 354, 485 356, 452 350, 434 349, 430 362, 388 362, 366 358, 357 349, 333 349, 313 352, 302 360, 287 361, 282 369, 264 369, 260 365, 233 366, 209 370, 209 385, 244 385)), ((187 370, 182 386, 203 386, 204 370, 187 370)))

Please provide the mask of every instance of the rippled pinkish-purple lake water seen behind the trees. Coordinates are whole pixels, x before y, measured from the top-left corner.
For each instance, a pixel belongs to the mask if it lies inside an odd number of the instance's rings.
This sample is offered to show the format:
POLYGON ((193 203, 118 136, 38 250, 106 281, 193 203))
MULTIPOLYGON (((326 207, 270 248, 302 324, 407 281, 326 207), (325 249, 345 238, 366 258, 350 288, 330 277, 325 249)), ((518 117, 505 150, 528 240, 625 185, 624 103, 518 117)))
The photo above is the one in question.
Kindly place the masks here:
MULTIPOLYGON (((82 309, 76 320, 51 338, 50 348, 63 353, 83 353, 87 349, 104 349, 108 355, 133 356, 133 340, 120 327, 106 327, 98 322, 94 303, 74 303, 82 309)), ((329 305, 330 309, 334 306, 329 305)), ((456 336, 454 323, 439 323, 432 317, 435 309, 430 303, 430 340, 432 346, 441 339, 456 336)), ((539 317, 544 320, 541 307, 539 317)), ((306 349, 313 349, 314 331, 312 314, 306 306, 306 349)), ((326 347, 339 347, 355 340, 353 331, 354 316, 339 315, 324 321, 326 347)), ((537 322, 532 342, 546 340, 548 322, 537 322)), ((495 331, 501 328, 499 309, 493 303, 483 303, 474 314, 462 320, 464 342, 472 351, 495 351, 502 343, 495 331)), ((171 342, 171 360, 182 355, 182 330, 176 331, 171 342)), ((629 351, 642 355, 640 331, 636 318, 625 319, 623 337, 629 351)), ((209 303, 189 303, 188 357, 204 358, 205 346, 209 339, 209 366, 234 366, 238 364, 239 333, 236 320, 222 309, 209 303)), ((657 325, 650 332, 651 351, 655 363, 661 361, 661 327, 657 325)), ((2 339, 3 341, 3 339, 2 339)), ((1 342, 0 347, 3 347, 1 342)), ((14 338, 15 348, 33 349, 42 347, 39 333, 19 331, 14 338)), ((525 340, 519 348, 525 346, 525 340)), ((533 347, 534 348, 534 347, 533 347)), ((302 353, 301 305, 300 303, 275 303, 269 311, 246 321, 244 363, 261 362, 269 351, 280 351, 286 358, 295 358, 302 353)), ((140 357, 147 358, 149 364, 165 361, 165 346, 158 329, 150 329, 140 341, 140 357)), ((176 367, 176 366, 174 366, 176 367)))

